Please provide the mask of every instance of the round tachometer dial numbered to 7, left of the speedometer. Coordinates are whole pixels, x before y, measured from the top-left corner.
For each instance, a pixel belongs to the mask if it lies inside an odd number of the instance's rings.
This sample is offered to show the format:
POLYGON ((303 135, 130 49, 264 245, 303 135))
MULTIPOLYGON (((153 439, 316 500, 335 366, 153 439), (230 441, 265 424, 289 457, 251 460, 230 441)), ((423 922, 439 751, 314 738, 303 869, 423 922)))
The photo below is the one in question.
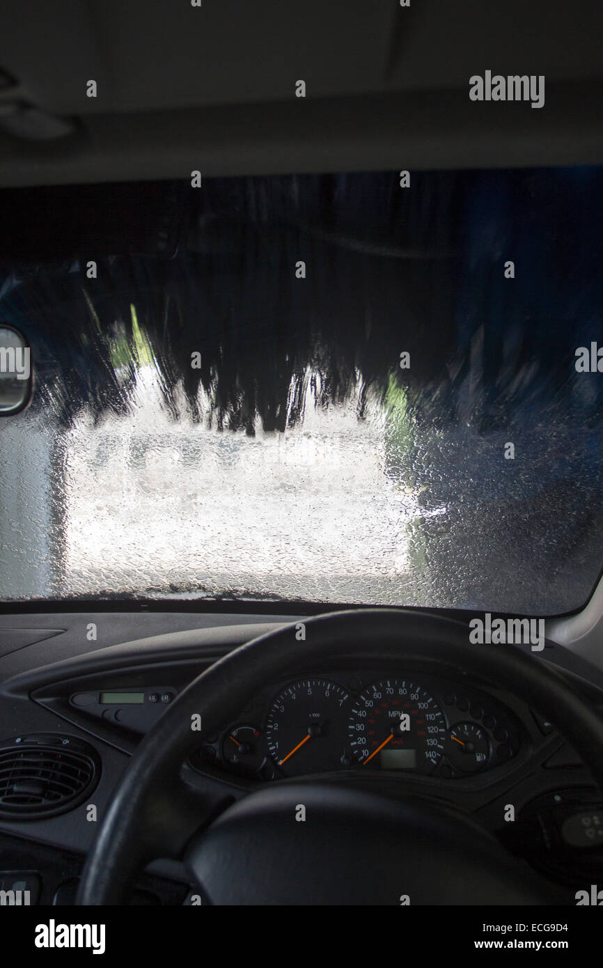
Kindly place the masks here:
POLYGON ((347 692, 326 679, 303 679, 277 696, 266 724, 268 749, 287 776, 338 770, 346 757, 347 692))

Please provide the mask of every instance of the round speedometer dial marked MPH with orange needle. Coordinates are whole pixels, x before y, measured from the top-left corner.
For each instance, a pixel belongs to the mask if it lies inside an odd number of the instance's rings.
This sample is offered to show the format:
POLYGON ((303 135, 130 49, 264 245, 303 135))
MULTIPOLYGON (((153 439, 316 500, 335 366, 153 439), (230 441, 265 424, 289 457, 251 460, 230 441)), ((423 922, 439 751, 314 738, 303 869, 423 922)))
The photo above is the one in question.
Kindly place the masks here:
POLYGON ((360 693, 349 714, 347 739, 352 758, 362 766, 430 772, 442 757, 446 724, 425 689, 387 679, 360 693))

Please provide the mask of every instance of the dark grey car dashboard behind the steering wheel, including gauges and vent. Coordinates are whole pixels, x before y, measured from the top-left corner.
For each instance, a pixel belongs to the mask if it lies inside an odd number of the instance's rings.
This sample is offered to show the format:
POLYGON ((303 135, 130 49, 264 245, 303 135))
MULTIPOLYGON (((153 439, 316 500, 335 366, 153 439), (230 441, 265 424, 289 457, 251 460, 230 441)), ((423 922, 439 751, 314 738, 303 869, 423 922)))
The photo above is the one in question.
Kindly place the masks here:
MULTIPOLYGON (((284 619, 206 616, 197 628, 185 615, 0 617, 0 881, 30 878, 37 903, 73 903, 143 736, 200 673, 284 619), (95 620, 104 641, 82 635, 95 620), (44 626, 56 634, 23 646, 23 630, 36 639, 44 626)), ((596 669, 560 646, 545 652, 539 660, 603 707, 596 669)), ((223 803, 317 774, 427 795, 472 815, 568 897, 603 877, 603 803, 580 757, 541 711, 470 669, 392 666, 377 647, 358 668, 325 655, 310 673, 291 667, 266 681, 215 733, 201 731, 183 769, 223 803)), ((133 903, 185 904, 191 890, 182 864, 159 860, 133 903)))

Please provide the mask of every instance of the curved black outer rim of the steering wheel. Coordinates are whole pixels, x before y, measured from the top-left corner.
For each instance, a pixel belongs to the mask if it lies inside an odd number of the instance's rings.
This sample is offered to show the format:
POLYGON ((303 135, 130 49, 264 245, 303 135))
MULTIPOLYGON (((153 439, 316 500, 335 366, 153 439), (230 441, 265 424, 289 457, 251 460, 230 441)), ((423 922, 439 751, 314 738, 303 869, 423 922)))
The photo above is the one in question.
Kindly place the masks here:
POLYGON ((284 679, 291 669, 303 675, 327 666, 378 662, 457 678, 470 670, 549 716, 603 793, 603 716, 588 707, 543 652, 472 645, 466 622, 424 612, 354 609, 308 619, 304 626, 303 639, 292 623, 229 652, 191 682, 146 734, 114 790, 88 854, 77 904, 124 903, 132 879, 146 863, 181 855, 175 828, 186 811, 179 781, 182 764, 198 749, 203 734, 224 728, 266 681, 284 679), (200 733, 191 728, 192 717, 198 715, 200 733))

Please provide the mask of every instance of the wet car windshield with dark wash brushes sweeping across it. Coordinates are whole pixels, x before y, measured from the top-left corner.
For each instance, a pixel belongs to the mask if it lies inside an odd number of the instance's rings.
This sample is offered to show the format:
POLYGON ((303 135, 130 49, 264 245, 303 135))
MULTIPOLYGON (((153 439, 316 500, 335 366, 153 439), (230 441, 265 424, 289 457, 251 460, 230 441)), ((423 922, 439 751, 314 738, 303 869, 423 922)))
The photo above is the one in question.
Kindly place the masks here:
POLYGON ((114 251, 61 247, 92 188, 19 200, 0 325, 35 387, 0 419, 0 597, 582 606, 603 168, 194 182, 114 251))

